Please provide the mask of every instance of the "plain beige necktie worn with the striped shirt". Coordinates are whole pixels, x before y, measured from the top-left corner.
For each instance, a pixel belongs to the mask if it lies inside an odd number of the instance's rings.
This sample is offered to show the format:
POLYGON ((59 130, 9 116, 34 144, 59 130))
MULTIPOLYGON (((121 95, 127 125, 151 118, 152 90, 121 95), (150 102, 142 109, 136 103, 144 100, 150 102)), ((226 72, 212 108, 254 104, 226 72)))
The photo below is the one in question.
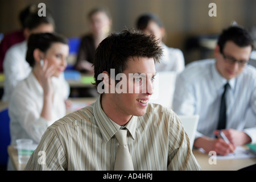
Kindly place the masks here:
POLYGON ((133 171, 133 160, 127 146, 127 130, 118 130, 115 134, 119 142, 117 156, 115 157, 115 171, 133 171))

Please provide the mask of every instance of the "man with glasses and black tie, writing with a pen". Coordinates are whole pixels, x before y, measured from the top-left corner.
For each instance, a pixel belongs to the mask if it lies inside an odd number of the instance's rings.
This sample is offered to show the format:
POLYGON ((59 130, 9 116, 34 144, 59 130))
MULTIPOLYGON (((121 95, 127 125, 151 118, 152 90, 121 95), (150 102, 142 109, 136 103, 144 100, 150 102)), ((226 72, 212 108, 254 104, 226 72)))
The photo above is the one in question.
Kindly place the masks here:
POLYGON ((226 28, 215 59, 194 61, 177 77, 173 109, 200 115, 194 147, 207 154, 226 155, 236 146, 256 143, 256 69, 247 65, 252 50, 245 28, 226 28))

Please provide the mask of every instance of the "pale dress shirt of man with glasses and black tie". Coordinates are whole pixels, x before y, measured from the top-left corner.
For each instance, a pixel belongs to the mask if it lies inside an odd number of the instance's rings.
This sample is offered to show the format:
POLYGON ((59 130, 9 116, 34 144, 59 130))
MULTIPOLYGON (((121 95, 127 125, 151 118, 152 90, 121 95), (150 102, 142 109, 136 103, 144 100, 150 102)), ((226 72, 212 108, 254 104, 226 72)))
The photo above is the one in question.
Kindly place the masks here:
MULTIPOLYGON (((176 80, 173 109, 177 114, 199 114, 196 138, 214 137, 221 95, 227 80, 218 73, 214 59, 194 61, 176 80)), ((227 129, 244 131, 256 143, 256 69, 247 65, 229 80, 226 93, 227 129)))

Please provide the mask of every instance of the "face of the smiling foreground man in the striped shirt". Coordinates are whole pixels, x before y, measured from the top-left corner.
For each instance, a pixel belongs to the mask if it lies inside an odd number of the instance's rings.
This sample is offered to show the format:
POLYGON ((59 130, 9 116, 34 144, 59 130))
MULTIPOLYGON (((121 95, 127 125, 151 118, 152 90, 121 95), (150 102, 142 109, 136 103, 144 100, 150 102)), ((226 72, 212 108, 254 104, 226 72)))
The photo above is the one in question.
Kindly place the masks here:
POLYGON ((112 94, 112 99, 115 103, 115 110, 125 117, 131 115, 144 115, 148 105, 148 100, 154 91, 154 59, 148 57, 131 58, 127 62, 127 68, 122 73, 125 74, 127 78, 127 92, 112 94), (129 73, 134 76, 129 77, 129 73), (131 90, 129 91, 129 87, 131 89, 131 86, 133 86, 132 93, 131 90))

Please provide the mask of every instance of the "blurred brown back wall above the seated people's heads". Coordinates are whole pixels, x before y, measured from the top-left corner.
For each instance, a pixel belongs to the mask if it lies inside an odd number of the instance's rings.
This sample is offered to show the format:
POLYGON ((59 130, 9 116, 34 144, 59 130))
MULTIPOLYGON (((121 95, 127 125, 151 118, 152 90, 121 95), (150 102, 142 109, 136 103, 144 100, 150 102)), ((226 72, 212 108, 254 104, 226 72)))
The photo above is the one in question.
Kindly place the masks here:
POLYGON ((164 43, 184 53, 185 64, 213 57, 212 46, 201 46, 201 39, 216 39, 234 20, 248 28, 256 39, 256 0, 0 0, 0 33, 20 28, 18 14, 30 3, 45 3, 52 12, 56 32, 68 38, 89 31, 86 15, 96 6, 110 10, 112 31, 133 28, 139 15, 155 13, 166 28, 164 43), (209 16, 210 3, 216 15, 209 16))

